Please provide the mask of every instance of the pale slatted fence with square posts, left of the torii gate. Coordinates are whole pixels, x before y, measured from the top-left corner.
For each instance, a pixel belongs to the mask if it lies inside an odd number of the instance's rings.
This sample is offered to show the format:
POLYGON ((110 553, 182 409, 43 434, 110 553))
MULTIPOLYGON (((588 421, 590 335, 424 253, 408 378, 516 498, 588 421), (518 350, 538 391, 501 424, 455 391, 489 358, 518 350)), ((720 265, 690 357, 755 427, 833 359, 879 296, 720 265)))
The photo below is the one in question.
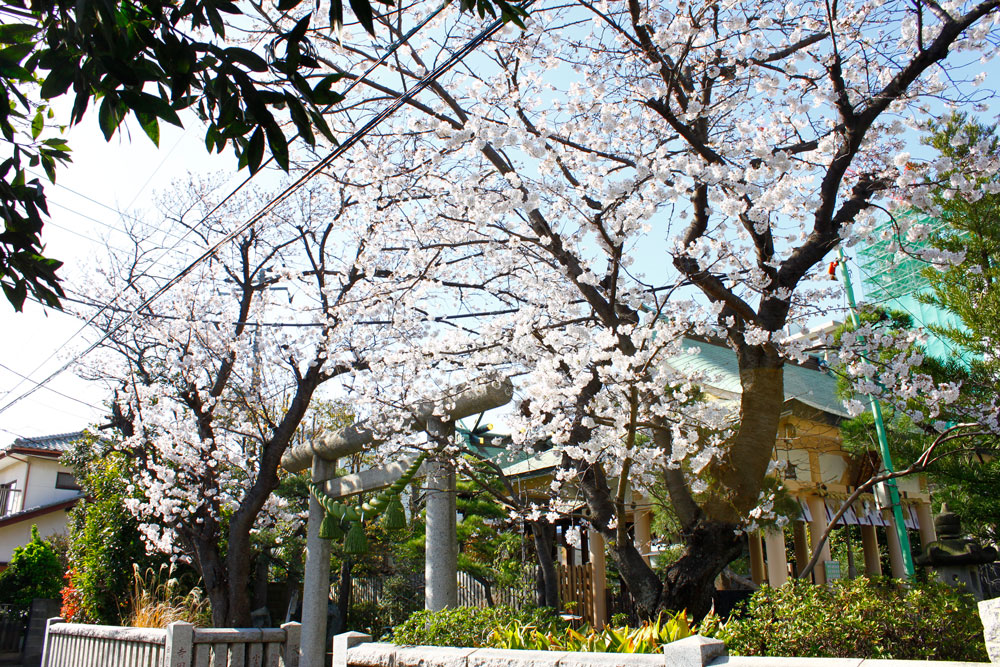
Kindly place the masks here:
POLYGON ((298 667, 298 623, 280 628, 120 628, 49 620, 41 667, 298 667))

